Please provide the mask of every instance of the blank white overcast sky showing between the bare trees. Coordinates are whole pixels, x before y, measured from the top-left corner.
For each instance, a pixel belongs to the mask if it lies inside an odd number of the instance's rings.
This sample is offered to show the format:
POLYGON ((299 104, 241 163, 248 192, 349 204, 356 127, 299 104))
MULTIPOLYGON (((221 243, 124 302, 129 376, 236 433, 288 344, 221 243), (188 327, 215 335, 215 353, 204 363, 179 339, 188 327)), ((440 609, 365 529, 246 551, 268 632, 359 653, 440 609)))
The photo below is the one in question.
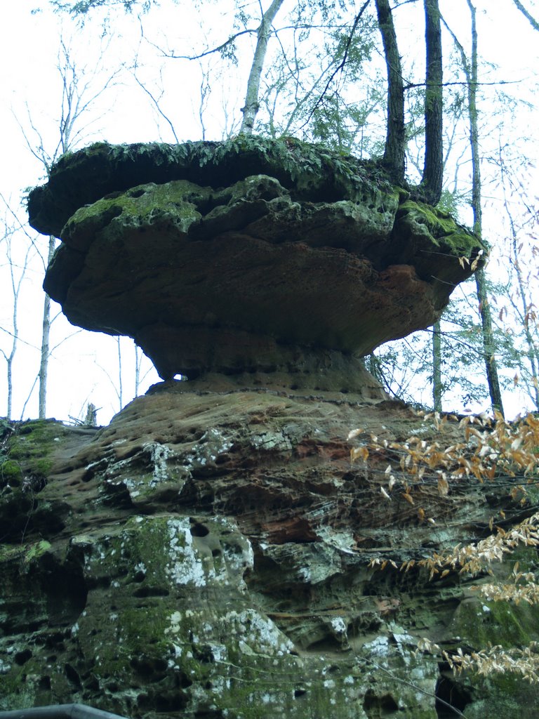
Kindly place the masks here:
MULTIPOLYGON (((266 3, 267 4, 267 3, 266 3)), ((31 142, 36 141, 29 126, 29 115, 35 127, 40 130, 47 147, 55 142, 55 127, 59 108, 60 86, 56 70, 58 42, 60 33, 65 40, 73 38, 75 60, 79 66, 86 65, 86 75, 91 74, 99 58, 100 33, 99 25, 88 25, 84 31, 77 31, 66 17, 55 16, 46 9, 45 0, 18 0, 3 3, 0 8, 0 127, 1 157, 0 192, 9 200, 11 207, 19 211, 19 198, 24 188, 40 182, 43 169, 32 157, 25 144, 22 124, 31 142), (45 12, 32 15, 35 7, 45 8, 45 12)), ((188 4, 187 4, 188 5, 188 4)), ((230 3, 219 2, 211 5, 211 29, 216 40, 224 40, 229 31, 229 24, 221 20, 230 3)), ((531 99, 530 93, 537 86, 537 68, 539 34, 534 33, 528 22, 517 13, 512 0, 478 0, 479 32, 481 51, 487 60, 502 66, 497 70, 497 79, 507 81, 525 81, 522 93, 531 99), (488 10, 485 14, 484 10, 488 10)), ((170 0, 162 3, 163 8, 153 12, 144 21, 147 34, 156 40, 162 39, 163 29, 167 30, 171 45, 185 46, 188 37, 191 39, 198 32, 198 17, 185 12, 185 9, 174 6, 170 0)), ((465 0, 441 0, 441 8, 448 22, 456 32, 467 32, 468 16, 465 0)), ((279 24, 278 22, 276 23, 279 24)), ((404 31, 402 36, 413 41, 413 28, 404 31)), ((202 37, 199 33, 198 37, 202 37)), ((110 45, 106 55, 106 71, 111 71, 119 64, 119 60, 130 63, 134 47, 139 38, 139 25, 135 18, 118 14, 111 24, 110 45)), ((406 52, 405 41, 401 49, 406 52)), ((233 119, 239 119, 241 97, 235 101, 236 88, 242 85, 242 78, 247 72, 247 64, 241 65, 237 76, 230 76, 224 82, 224 97, 231 99, 231 104, 223 109, 223 102, 213 106, 206 115, 207 138, 220 139, 223 134, 224 115, 228 115, 229 125, 233 119), (226 86, 228 83, 228 86, 226 86)), ((200 139, 201 125, 198 122, 199 86, 198 74, 194 65, 186 61, 177 63, 168 71, 167 87, 169 95, 168 108, 174 108, 175 127, 180 139, 200 139), (173 92, 170 92, 170 88, 173 92)), ((171 110, 172 111, 172 110, 171 110)), ((497 111, 496 107, 489 111, 497 111)), ((536 122, 531 122, 530 114, 520 111, 522 125, 515 128, 515 142, 522 135, 537 132, 536 122)), ((162 136, 156 129, 155 113, 147 102, 144 93, 137 88, 129 73, 121 75, 118 84, 103 95, 101 106, 96 106, 88 118, 94 119, 88 128, 88 142, 95 139, 106 139, 109 142, 137 142, 151 139, 172 141, 167 134, 166 124, 162 125, 162 136)), ((487 211, 485 220, 496 222, 497 198, 494 206, 487 211)), ((487 205, 488 205, 487 198, 487 205)), ((19 212, 24 220, 24 214, 19 212)), ((28 230, 34 237, 35 233, 28 230)), ((37 246, 45 252, 47 239, 37 237, 37 246)), ((24 242, 17 243, 14 252, 19 253, 16 260, 20 262, 24 242)), ((0 245, 0 327, 12 331, 11 305, 12 293, 9 286, 9 273, 6 265, 6 245, 0 245)), ((23 406, 29 396, 39 367, 39 352, 42 315, 42 265, 34 260, 27 273, 21 290, 19 307, 19 347, 14 360, 14 418, 19 418, 23 406)), ((68 334, 68 323, 60 318, 55 322, 52 333, 52 345, 68 334)), ((9 337, 6 332, 0 334, 0 347, 9 352, 9 337)), ((125 368, 132 366, 134 350, 129 340, 122 341, 124 362, 124 403, 132 398, 133 378, 125 368)), ((101 334, 80 332, 63 342, 54 352, 50 363, 49 399, 47 414, 67 420, 70 416, 84 414, 86 403, 93 402, 100 411, 98 421, 106 423, 119 409, 116 391, 118 390, 118 348, 116 341, 101 334)), ((143 390, 158 380, 155 372, 151 372, 143 390)), ((0 357, 0 416, 6 413, 6 372, 3 357, 0 357)), ((516 411, 520 408, 520 399, 515 394, 516 411)), ((37 385, 26 408, 24 418, 37 416, 37 385)))

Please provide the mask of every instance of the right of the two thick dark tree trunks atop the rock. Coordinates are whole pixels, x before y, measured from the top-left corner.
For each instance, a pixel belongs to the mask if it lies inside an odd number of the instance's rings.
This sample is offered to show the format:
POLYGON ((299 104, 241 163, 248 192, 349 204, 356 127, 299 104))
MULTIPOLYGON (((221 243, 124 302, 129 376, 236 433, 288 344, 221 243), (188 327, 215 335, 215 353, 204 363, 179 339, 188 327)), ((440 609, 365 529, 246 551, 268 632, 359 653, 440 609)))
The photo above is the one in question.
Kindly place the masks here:
POLYGON ((425 7, 425 165, 420 189, 425 202, 437 205, 443 181, 443 68, 438 0, 423 0, 425 7))

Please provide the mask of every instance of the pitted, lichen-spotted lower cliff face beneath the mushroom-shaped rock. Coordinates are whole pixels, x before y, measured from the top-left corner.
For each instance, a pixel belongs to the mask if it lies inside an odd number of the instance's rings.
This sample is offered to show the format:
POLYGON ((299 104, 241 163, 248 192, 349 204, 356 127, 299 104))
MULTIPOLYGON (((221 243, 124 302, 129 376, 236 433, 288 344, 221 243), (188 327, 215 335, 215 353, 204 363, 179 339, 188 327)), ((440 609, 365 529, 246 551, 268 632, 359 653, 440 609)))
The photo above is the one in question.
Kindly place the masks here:
POLYGON ((435 719, 455 715, 450 702, 468 719, 535 718, 525 682, 454 677, 418 641, 526 644, 537 610, 479 600, 455 572, 369 567, 476 539, 500 509, 525 513, 507 486, 463 478, 439 493, 435 472, 414 506, 398 475, 386 500, 390 450, 350 463, 351 429, 356 446, 454 444, 456 421, 188 385, 157 385, 99 430, 4 426, 2 709, 435 719))

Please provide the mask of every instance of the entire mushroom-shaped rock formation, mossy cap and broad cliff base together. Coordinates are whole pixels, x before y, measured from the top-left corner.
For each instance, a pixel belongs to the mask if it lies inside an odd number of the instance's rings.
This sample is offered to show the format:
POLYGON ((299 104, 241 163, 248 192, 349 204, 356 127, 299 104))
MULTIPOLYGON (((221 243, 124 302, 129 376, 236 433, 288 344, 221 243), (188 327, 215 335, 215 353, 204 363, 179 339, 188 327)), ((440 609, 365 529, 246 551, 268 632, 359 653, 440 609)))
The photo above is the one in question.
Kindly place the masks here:
POLYGON ((459 681, 418 649, 535 638, 533 610, 397 569, 517 498, 468 477, 441 494, 431 469, 419 506, 405 475, 382 493, 394 441, 461 434, 361 364, 438 319, 480 261, 469 231, 374 165, 256 137, 93 145, 29 215, 62 239, 45 288, 68 319, 134 337, 167 381, 99 431, 4 427, 1 708, 535 719, 521 684, 459 681), (351 464, 356 428, 382 444, 351 464))

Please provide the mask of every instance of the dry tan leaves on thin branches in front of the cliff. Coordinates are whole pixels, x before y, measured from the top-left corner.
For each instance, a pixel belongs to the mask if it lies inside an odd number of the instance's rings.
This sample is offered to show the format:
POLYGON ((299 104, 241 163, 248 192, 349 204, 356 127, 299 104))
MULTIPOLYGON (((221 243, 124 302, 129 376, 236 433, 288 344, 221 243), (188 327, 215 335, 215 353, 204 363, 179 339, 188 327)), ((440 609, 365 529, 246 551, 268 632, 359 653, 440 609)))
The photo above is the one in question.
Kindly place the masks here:
MULTIPOLYGON (((441 417, 438 413, 425 415, 425 421, 433 421, 440 429, 448 416, 441 417)), ((454 419, 454 418, 453 418, 454 419)), ((512 484, 513 498, 522 495, 520 503, 527 504, 527 487, 538 482, 539 475, 539 417, 530 413, 522 419, 508 423, 497 415, 494 421, 487 417, 468 416, 461 420, 463 441, 451 446, 443 446, 438 441, 425 441, 417 436, 410 436, 400 442, 379 442, 371 437, 368 443, 351 448, 351 460, 368 462, 373 452, 382 448, 390 448, 400 454, 397 467, 388 465, 386 470, 387 485, 380 490, 385 500, 391 500, 395 492, 414 504, 414 486, 422 480, 425 472, 436 472, 438 475, 438 493, 446 496, 451 492, 455 482, 461 477, 475 477, 479 482, 489 482, 504 477, 512 484), (398 479, 397 479, 398 477, 398 479)), ((361 430, 351 431, 349 440, 361 436, 361 430)), ((505 518, 504 513, 501 513, 505 518)), ((423 521, 425 512, 418 508, 418 517, 423 521)), ((436 523, 429 518, 430 523, 436 523)), ((539 546, 539 513, 533 513, 520 523, 508 529, 501 526, 494 528, 491 518, 489 527, 492 534, 474 544, 457 545, 448 551, 434 553, 425 559, 411 559, 402 562, 400 567, 391 559, 375 558, 369 566, 385 569, 387 566, 408 572, 413 567, 427 569, 430 580, 443 579, 451 572, 476 576, 493 574, 491 564, 503 562, 504 559, 519 546, 539 546), (494 531, 493 531, 494 530, 494 531)), ((488 582, 471 587, 479 592, 485 600, 510 601, 515 604, 539 604, 539 582, 536 574, 521 571, 516 562, 508 582, 488 582)), ((440 646, 428 639, 418 643, 419 651, 441 653, 451 668, 461 672, 471 669, 478 674, 487 676, 493 672, 513 672, 520 674, 531 683, 539 683, 539 644, 532 642, 524 648, 502 646, 489 647, 480 651, 464 651, 455 653, 442 651, 440 646)))

